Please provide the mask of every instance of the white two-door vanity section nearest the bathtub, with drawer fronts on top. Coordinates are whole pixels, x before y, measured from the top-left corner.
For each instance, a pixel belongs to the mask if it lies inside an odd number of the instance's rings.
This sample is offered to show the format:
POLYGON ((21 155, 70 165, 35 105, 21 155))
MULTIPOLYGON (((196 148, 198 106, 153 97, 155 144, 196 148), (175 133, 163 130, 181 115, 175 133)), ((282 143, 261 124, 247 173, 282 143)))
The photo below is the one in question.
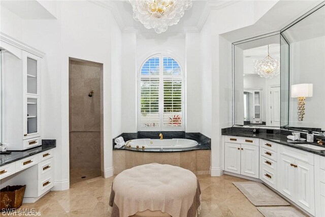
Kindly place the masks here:
POLYGON ((256 138, 225 136, 224 170, 258 178, 258 145, 259 141, 256 138))

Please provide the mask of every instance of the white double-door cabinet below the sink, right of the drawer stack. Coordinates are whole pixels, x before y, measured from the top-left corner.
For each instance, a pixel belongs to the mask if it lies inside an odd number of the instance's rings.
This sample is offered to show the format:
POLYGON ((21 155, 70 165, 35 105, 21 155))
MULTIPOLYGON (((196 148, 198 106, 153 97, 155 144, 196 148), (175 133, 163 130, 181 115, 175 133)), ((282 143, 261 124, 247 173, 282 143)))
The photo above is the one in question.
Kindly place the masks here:
POLYGON ((281 145, 278 192, 315 215, 314 154, 281 145))

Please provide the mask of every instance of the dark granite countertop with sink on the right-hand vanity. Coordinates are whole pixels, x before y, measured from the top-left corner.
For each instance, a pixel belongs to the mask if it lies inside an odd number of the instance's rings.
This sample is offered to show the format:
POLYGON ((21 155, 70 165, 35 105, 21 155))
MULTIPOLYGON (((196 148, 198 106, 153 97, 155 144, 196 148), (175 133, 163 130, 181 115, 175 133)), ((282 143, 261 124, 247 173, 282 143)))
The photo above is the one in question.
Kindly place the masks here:
MULTIPOLYGON (((241 137, 251 137, 251 138, 259 138, 264 139, 270 142, 275 142, 281 145, 285 145, 291 148, 297 148, 303 151, 307 151, 310 153, 318 154, 320 156, 325 157, 325 150, 314 150, 311 148, 306 148, 302 146, 298 146, 297 144, 312 144, 319 146, 317 143, 314 142, 306 142, 306 141, 292 141, 288 140, 286 136, 279 135, 279 134, 265 134, 265 133, 259 133, 259 134, 253 134, 251 132, 226 132, 222 133, 224 136, 241 136, 241 137)), ((325 147, 325 146, 323 146, 325 147)))

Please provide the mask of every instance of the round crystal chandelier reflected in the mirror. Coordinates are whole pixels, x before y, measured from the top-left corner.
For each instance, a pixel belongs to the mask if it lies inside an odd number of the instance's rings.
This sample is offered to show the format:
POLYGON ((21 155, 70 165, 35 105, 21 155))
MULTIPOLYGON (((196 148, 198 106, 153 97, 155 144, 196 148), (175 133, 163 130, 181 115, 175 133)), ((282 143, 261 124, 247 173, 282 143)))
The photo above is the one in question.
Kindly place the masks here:
POLYGON ((272 78, 280 73, 280 63, 270 56, 270 47, 268 45, 268 56, 262 60, 257 60, 254 72, 261 77, 272 78))

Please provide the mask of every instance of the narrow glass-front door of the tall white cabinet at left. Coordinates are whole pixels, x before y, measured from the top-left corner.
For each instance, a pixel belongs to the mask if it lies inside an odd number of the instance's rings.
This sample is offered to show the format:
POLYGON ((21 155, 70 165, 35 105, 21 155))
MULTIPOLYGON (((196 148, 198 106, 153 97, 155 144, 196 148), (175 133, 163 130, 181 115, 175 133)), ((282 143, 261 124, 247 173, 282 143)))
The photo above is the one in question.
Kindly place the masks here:
POLYGON ((40 136, 40 60, 23 51, 23 139, 40 136))

